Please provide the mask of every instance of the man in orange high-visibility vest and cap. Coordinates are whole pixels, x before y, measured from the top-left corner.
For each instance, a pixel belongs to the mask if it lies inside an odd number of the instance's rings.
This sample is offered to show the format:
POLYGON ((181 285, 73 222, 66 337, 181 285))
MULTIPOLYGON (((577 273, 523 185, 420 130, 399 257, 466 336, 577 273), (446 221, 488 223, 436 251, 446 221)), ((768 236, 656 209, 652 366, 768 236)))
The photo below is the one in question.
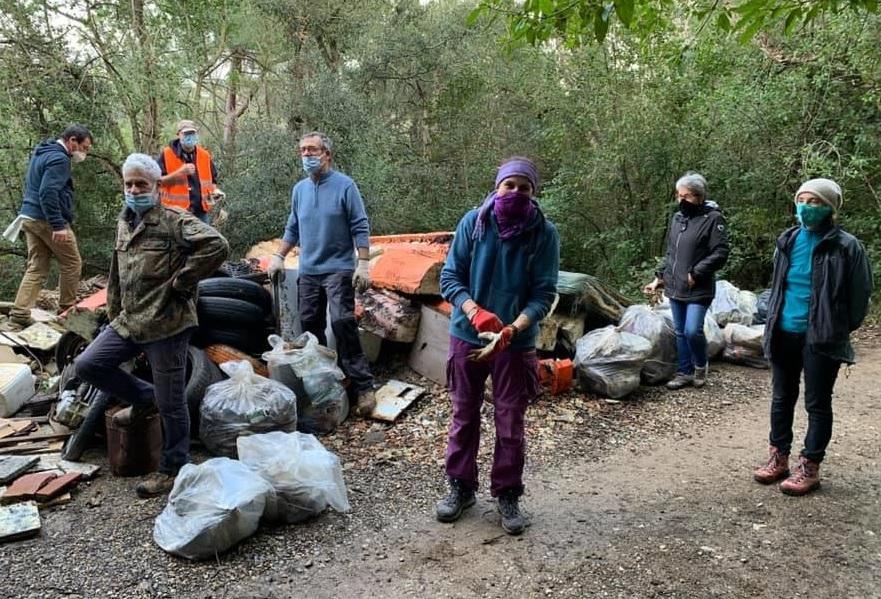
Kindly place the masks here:
POLYGON ((156 159, 162 169, 160 198, 164 206, 189 210, 208 222, 212 194, 217 190, 217 167, 211 154, 199 145, 199 128, 184 119, 177 124, 177 138, 171 140, 156 159))

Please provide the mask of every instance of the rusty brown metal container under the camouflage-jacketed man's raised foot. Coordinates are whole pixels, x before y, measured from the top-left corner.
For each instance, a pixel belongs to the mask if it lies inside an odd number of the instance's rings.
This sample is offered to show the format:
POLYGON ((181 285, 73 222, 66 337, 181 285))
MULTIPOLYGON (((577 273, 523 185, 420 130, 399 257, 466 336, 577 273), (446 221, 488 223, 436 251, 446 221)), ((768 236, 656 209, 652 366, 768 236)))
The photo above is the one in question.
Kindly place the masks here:
POLYGON ((107 425, 107 459, 114 476, 140 476, 159 469, 162 456, 162 421, 159 414, 133 423, 117 426, 113 414, 121 410, 113 406, 104 412, 107 425))

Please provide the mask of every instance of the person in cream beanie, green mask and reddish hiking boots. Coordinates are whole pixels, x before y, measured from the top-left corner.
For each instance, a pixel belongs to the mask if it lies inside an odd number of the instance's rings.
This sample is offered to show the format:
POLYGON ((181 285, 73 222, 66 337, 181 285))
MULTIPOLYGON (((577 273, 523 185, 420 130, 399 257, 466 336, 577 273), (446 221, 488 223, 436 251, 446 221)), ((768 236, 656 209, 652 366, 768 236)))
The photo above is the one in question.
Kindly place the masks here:
POLYGON ((770 449, 753 477, 763 484, 784 479, 780 490, 788 495, 820 486, 820 463, 832 437, 832 390, 841 364, 854 363, 850 333, 863 322, 873 287, 863 246, 836 223, 840 208, 837 183, 806 181, 795 194, 799 225, 780 235, 774 253, 764 339, 772 375, 770 449), (802 373, 808 430, 790 472, 802 373))

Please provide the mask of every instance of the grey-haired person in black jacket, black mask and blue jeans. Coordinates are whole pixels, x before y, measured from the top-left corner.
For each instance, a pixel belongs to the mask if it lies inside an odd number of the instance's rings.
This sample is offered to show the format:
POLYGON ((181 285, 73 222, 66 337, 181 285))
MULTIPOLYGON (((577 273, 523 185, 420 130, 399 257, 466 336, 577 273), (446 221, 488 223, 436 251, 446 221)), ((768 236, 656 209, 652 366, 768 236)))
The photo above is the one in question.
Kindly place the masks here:
POLYGON ((676 182, 679 210, 667 232, 667 251, 646 294, 664 288, 676 330, 678 368, 668 389, 703 387, 707 380, 704 317, 716 294, 716 271, 728 260, 728 229, 715 202, 707 200, 707 180, 686 173, 676 182))

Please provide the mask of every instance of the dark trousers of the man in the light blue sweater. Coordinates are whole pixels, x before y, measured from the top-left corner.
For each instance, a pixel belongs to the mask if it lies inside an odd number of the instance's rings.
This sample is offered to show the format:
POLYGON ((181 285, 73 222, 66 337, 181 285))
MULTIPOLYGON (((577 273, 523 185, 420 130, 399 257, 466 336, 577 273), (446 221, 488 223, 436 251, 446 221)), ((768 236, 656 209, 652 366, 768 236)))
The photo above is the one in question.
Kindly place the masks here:
POLYGON ((300 324, 304 331, 315 335, 321 345, 327 345, 324 330, 330 307, 330 329, 336 337, 340 368, 352 381, 355 392, 360 393, 373 388, 373 375, 358 336, 352 274, 351 270, 324 275, 301 274, 297 281, 297 297, 300 324))

